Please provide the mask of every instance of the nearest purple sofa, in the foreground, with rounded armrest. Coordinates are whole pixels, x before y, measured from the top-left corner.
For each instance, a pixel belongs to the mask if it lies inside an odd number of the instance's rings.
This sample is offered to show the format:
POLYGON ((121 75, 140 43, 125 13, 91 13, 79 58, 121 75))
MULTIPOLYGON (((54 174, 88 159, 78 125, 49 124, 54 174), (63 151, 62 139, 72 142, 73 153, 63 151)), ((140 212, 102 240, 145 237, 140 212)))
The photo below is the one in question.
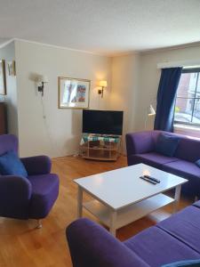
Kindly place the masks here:
POLYGON ((161 267, 200 259, 200 201, 124 242, 88 219, 71 223, 67 239, 74 267, 161 267))

